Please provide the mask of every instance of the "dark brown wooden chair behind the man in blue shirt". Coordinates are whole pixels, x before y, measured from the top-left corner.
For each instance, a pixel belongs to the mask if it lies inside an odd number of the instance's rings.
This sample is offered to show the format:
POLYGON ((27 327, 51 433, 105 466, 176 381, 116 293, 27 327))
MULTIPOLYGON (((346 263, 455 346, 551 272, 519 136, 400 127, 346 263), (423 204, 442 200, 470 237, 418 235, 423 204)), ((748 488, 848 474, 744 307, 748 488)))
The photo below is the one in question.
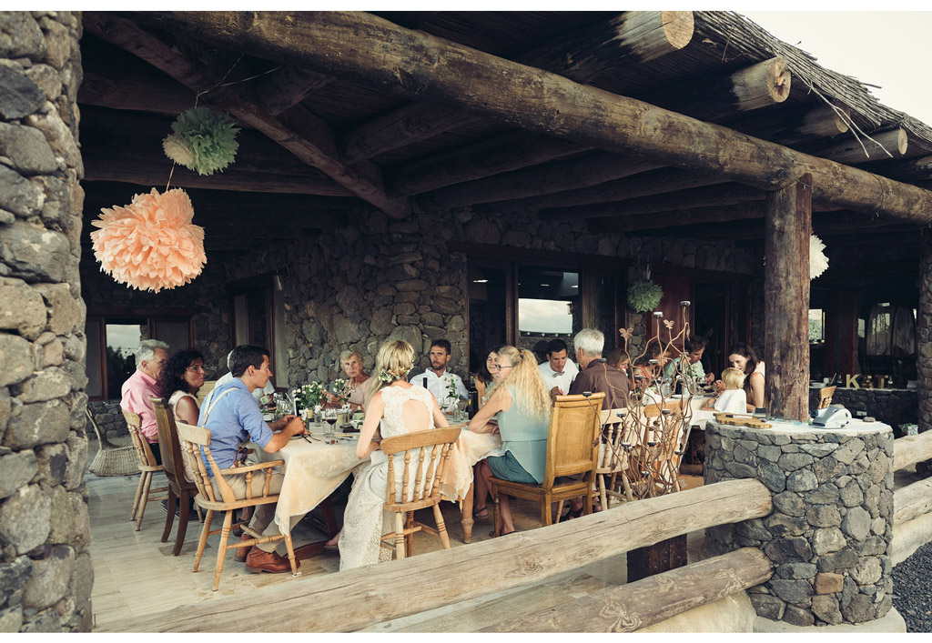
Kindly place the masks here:
MULTIPOLYGON (((162 454, 162 467, 165 477, 169 481, 169 507, 165 516, 165 528, 162 530, 162 542, 168 542, 171 526, 174 524, 175 503, 180 502, 181 511, 178 515, 178 533, 175 534, 174 549, 171 555, 181 554, 187 533, 188 513, 191 509, 191 499, 198 495, 198 486, 188 479, 185 472, 185 461, 181 455, 181 446, 178 443, 178 427, 175 426, 174 414, 165 405, 160 397, 150 397, 149 402, 156 413, 158 425, 158 449, 162 454)), ((194 477, 193 475, 190 477, 194 477)), ((195 504, 200 516, 200 507, 195 504)))

